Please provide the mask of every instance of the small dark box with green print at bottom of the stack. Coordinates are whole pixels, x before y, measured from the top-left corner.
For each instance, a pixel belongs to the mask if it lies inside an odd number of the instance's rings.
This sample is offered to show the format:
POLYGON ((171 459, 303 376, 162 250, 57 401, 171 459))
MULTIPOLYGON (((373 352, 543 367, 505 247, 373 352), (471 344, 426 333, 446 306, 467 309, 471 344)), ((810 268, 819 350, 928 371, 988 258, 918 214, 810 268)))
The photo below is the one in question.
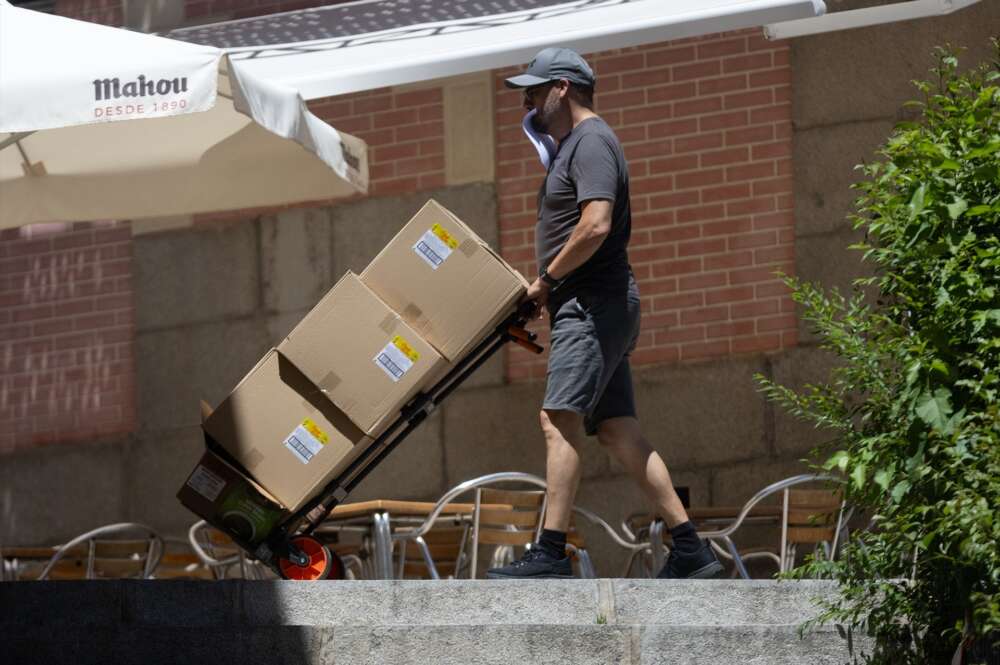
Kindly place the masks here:
POLYGON ((208 450, 177 498, 191 512, 248 546, 266 539, 288 516, 264 488, 208 450))

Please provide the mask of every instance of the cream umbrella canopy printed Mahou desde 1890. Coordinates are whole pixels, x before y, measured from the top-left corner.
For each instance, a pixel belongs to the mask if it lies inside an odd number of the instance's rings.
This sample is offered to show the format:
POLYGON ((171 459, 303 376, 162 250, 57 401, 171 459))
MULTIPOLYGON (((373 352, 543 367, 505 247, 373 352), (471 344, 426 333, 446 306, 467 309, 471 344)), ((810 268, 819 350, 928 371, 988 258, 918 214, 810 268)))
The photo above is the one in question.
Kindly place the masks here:
POLYGON ((0 0, 0 228, 272 206, 367 185, 363 141, 221 50, 0 0))

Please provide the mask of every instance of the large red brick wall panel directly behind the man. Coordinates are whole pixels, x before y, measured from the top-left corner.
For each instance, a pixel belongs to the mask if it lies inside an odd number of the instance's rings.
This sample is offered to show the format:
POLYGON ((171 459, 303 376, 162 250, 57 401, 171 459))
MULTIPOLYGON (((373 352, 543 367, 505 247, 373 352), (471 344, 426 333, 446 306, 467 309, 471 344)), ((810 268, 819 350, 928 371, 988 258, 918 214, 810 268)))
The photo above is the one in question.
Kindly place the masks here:
MULTIPOLYGON (((596 110, 629 160, 644 312, 635 364, 795 345, 793 303, 773 274, 794 270, 789 46, 759 35, 588 56, 596 110)), ((534 275, 544 171, 520 128, 521 95, 503 86, 514 71, 496 75, 500 237, 504 256, 534 275)), ((509 363, 515 380, 545 372, 521 349, 509 363)))

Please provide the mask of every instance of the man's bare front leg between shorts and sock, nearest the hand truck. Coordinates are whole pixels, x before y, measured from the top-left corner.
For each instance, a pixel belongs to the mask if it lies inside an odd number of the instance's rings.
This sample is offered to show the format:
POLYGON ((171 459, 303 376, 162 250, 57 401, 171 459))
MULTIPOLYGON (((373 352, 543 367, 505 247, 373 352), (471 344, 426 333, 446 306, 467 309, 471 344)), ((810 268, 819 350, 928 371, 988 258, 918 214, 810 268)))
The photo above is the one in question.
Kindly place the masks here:
POLYGON ((565 533, 569 530, 573 499, 580 485, 577 445, 583 436, 583 416, 573 411, 546 409, 539 416, 545 435, 545 482, 548 485, 545 528, 565 533))

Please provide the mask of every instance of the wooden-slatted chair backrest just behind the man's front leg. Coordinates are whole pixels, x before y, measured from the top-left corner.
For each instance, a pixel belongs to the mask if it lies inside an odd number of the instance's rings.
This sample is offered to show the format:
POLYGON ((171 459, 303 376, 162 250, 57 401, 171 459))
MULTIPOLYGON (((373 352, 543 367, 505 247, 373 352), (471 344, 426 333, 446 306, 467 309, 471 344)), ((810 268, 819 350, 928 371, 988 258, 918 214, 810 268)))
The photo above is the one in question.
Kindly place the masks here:
POLYGON ((543 490, 476 488, 472 515, 471 578, 478 573, 480 545, 524 547, 537 539, 545 516, 545 497, 543 490))

